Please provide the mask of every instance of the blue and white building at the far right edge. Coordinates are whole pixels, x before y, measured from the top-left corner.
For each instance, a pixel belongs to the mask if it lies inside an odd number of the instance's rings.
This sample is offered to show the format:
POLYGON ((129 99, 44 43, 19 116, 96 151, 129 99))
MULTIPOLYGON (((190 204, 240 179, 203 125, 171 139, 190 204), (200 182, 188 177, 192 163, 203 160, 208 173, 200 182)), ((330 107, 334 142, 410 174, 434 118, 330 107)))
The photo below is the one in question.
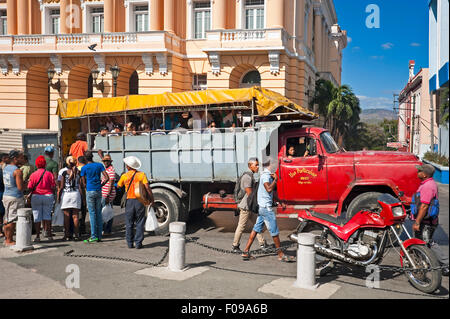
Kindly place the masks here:
MULTIPOLYGON (((431 107, 435 110, 436 122, 439 124, 439 108, 442 89, 448 89, 449 79, 449 0, 429 0, 429 85, 431 107)), ((439 125, 435 135, 434 151, 449 156, 448 123, 439 125)))

